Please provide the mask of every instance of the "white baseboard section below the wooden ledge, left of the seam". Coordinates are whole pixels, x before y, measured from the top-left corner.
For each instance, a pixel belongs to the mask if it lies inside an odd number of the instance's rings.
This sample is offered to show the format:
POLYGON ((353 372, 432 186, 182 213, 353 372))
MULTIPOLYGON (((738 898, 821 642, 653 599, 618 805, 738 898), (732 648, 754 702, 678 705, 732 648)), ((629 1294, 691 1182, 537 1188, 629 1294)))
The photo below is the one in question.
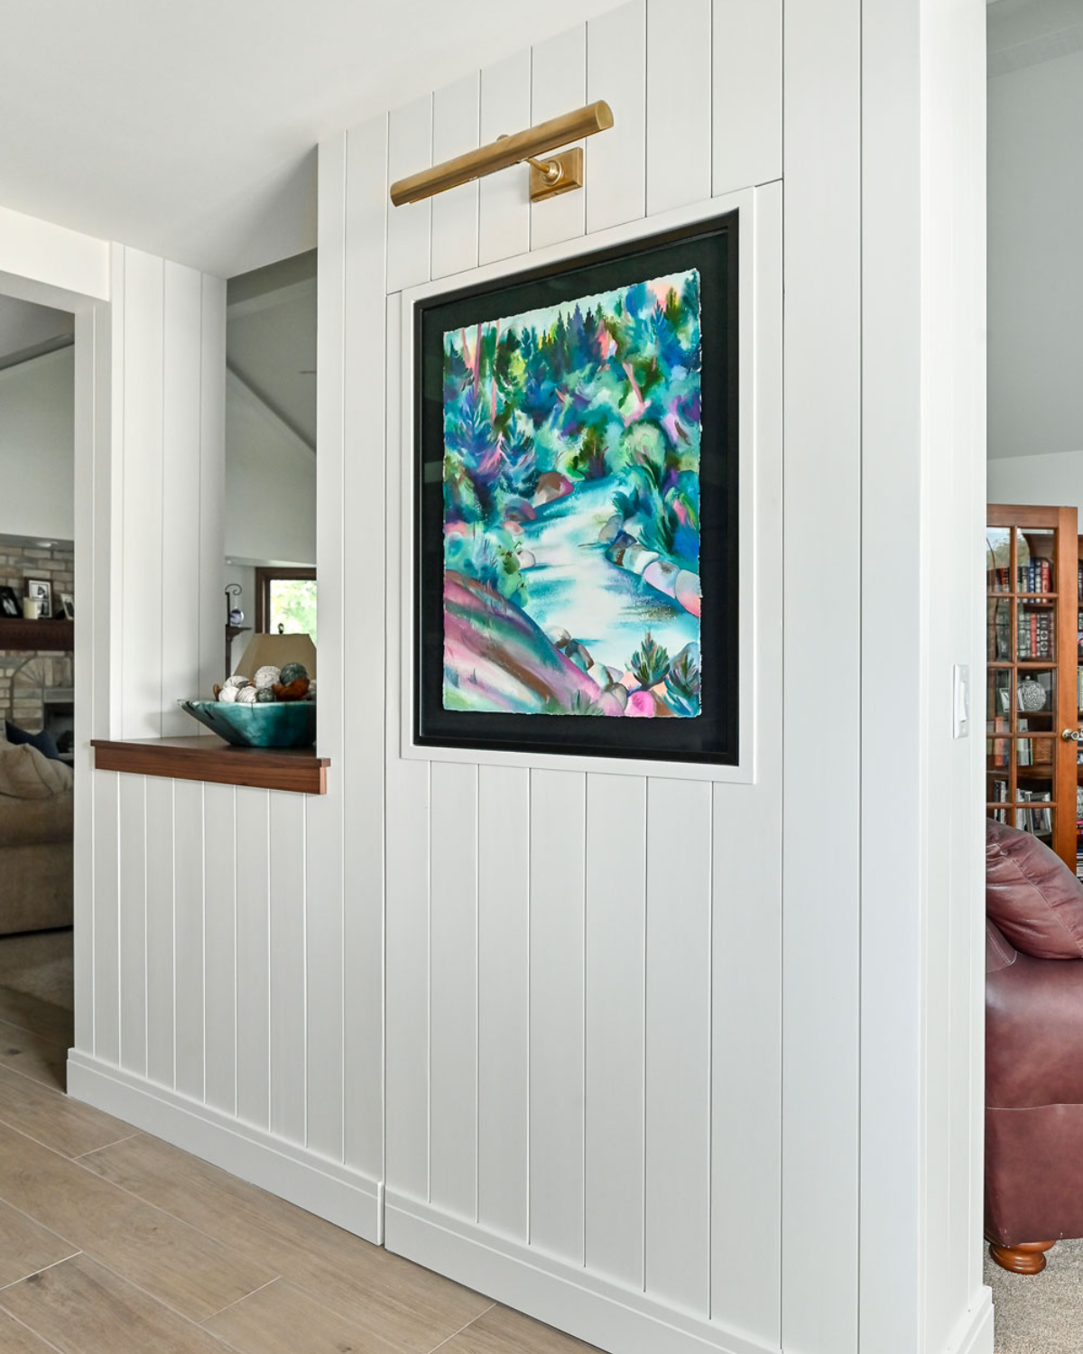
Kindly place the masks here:
POLYGON ((379 1181, 72 1049, 68 1094, 380 1244, 379 1181))

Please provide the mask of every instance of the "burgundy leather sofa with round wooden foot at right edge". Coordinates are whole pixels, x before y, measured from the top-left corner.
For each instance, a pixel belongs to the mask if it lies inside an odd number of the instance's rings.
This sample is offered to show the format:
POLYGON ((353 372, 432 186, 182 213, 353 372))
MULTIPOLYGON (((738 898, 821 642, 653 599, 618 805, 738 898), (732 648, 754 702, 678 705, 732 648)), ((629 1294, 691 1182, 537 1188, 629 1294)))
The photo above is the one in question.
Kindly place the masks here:
POLYGON ((986 829, 986 1235, 1017 1274, 1083 1236, 1083 884, 986 829))

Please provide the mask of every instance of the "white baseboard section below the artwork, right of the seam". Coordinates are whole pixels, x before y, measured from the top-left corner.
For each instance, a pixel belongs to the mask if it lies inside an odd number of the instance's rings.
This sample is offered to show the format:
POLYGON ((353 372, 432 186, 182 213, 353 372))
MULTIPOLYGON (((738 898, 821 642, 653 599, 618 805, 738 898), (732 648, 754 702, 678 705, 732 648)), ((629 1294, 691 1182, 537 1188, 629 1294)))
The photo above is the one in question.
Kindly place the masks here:
POLYGON ((613 1354, 780 1354, 387 1190, 384 1246, 613 1354))

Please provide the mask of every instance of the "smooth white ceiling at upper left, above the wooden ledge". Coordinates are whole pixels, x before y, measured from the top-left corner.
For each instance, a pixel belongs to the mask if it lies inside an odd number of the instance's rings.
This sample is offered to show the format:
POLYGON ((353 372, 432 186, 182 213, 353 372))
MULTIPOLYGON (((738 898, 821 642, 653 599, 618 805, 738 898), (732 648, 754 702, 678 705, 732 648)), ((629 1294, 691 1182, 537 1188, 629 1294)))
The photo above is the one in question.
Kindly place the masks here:
POLYGON ((233 276, 315 244, 319 139, 613 4, 0 0, 0 203, 233 276))

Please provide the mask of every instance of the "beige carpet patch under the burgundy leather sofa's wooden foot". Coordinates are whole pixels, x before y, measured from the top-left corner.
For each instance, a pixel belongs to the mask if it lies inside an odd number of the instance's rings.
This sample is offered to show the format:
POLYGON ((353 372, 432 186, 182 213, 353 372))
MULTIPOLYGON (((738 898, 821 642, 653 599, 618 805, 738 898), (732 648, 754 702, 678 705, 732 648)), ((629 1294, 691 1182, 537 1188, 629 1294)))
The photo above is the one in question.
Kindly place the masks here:
POLYGON ((986 1252, 995 1354, 1083 1354, 1083 1242, 1057 1242, 1041 1274, 1009 1274, 986 1252))

